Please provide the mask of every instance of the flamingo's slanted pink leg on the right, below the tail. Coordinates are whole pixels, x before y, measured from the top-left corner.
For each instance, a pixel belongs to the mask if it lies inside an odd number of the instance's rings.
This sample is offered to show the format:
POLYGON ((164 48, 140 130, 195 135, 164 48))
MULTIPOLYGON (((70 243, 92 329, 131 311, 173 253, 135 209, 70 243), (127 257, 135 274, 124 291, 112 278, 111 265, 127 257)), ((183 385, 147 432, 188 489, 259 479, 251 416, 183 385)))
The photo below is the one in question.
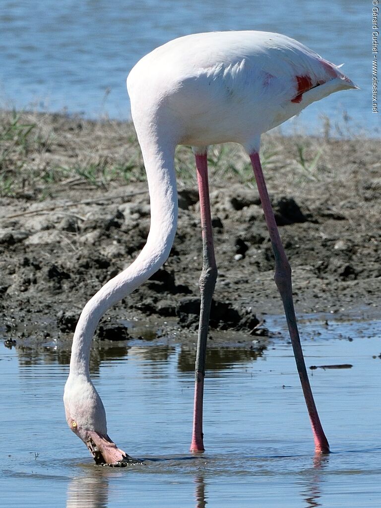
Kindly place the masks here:
POLYGON ((287 325, 289 327, 291 342, 294 349, 296 366, 298 369, 300 382, 304 398, 307 404, 308 414, 311 421, 313 437, 315 440, 315 451, 317 453, 329 453, 329 444, 324 434, 322 424, 320 423, 319 415, 317 414, 315 401, 313 400, 311 386, 307 376, 306 365, 304 363, 302 346, 300 344, 298 326, 296 323, 296 316, 294 310, 294 302, 292 297, 291 285, 291 267, 285 255, 283 245, 280 240, 278 228, 275 223, 274 213, 271 207, 269 195, 267 193, 266 183, 262 172, 261 161, 259 154, 253 152, 250 154, 250 160, 254 174, 257 180, 259 196, 261 198, 263 211, 267 227, 270 233, 272 248, 275 257, 275 283, 279 290, 287 325))

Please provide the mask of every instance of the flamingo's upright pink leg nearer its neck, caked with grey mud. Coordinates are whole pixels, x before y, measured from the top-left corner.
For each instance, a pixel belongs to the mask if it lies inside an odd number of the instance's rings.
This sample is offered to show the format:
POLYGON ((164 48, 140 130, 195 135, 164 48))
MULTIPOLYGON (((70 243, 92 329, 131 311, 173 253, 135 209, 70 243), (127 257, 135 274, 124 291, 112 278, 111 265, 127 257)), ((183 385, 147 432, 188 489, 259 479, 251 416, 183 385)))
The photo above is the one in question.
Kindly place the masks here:
POLYGON ((209 314, 212 296, 217 278, 217 267, 214 258, 212 221, 210 217, 208 163, 207 154, 196 154, 197 180, 200 194, 200 211, 203 244, 203 267, 200 276, 200 324, 197 341, 195 371, 195 405, 193 415, 191 452, 203 452, 202 409, 204 396, 205 353, 208 338, 209 314))

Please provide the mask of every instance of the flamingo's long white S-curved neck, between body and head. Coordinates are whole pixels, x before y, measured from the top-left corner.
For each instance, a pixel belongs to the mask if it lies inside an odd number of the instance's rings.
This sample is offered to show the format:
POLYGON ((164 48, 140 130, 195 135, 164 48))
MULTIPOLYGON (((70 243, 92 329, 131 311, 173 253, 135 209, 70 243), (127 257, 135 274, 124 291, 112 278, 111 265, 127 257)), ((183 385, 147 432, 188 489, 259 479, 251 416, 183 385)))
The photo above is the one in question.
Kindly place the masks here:
POLYGON ((147 243, 137 259, 109 280, 85 305, 72 345, 70 372, 89 376, 91 339, 102 315, 140 286, 167 260, 177 226, 177 191, 174 170, 175 144, 160 140, 155 132, 139 136, 151 205, 147 243))

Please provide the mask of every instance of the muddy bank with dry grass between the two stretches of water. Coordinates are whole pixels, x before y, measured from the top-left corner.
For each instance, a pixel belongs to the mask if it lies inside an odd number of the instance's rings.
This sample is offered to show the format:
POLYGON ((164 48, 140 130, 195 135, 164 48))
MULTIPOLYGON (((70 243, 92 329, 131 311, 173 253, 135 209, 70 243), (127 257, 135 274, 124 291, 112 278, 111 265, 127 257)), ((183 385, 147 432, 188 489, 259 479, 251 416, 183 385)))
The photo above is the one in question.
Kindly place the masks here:
MULTIPOLYGON (((144 168, 130 124, 59 115, 18 121, 31 124, 25 139, 21 128, 7 137, 3 128, 0 334, 70 341, 86 301, 145 243, 144 168)), ((297 312, 376 314, 380 144, 270 134, 262 151, 297 312)), ((179 224, 168 261, 107 312, 99 340, 196 340, 202 243, 192 158, 186 148, 176 154, 179 224)), ((210 159, 219 272, 211 336, 253 347, 267 334, 266 314, 282 312, 271 245, 245 155, 226 145, 212 149, 210 159)))

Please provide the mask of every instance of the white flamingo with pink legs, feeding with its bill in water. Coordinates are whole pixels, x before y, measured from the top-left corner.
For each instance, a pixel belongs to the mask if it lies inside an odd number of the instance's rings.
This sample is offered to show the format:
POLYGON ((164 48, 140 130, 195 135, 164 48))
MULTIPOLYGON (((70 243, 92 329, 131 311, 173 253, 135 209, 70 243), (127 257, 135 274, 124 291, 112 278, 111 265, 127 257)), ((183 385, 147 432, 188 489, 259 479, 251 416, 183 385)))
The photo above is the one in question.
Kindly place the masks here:
POLYGON ((134 461, 107 435, 106 414, 89 375, 91 339, 104 312, 147 280, 167 260, 177 224, 174 152, 191 145, 196 157, 203 239, 201 310, 197 343, 194 423, 190 450, 204 450, 202 430, 205 351, 217 277, 210 217, 207 145, 233 141, 248 153, 275 257, 278 287, 311 421, 315 451, 329 444, 312 397, 296 323, 291 268, 280 241, 261 168, 261 134, 314 101, 357 86, 332 63, 289 37, 260 31, 195 34, 144 56, 127 79, 132 118, 143 153, 151 205, 147 242, 137 259, 85 305, 73 338, 65 386, 69 427, 99 464, 134 461))

